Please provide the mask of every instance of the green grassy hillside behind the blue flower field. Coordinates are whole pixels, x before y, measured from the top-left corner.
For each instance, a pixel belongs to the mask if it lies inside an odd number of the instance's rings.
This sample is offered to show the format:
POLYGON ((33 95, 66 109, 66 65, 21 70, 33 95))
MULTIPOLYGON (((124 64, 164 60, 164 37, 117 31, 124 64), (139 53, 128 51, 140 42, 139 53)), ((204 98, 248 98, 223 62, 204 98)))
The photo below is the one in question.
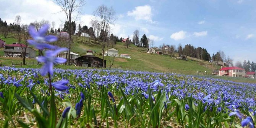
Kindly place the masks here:
MULTIPOLYGON (((8 38, 3 38, 0 35, 0 38, 6 41, 6 44, 12 44, 16 40, 13 39, 13 34, 9 34, 8 38)), ((112 47, 108 47, 110 49, 112 47)), ((178 74, 190 74, 190 75, 204 75, 205 71, 207 74, 211 74, 212 70, 219 69, 219 66, 211 65, 209 62, 198 60, 194 58, 188 57, 188 61, 185 60, 178 60, 175 58, 171 58, 169 55, 157 55, 157 54, 149 54, 146 53, 146 48, 136 47, 135 45, 130 45, 128 49, 126 46, 121 43, 117 42, 113 45, 113 48, 118 50, 118 54, 129 54, 131 59, 128 58, 115 58, 115 62, 112 66, 112 69, 121 69, 121 70, 136 70, 136 71, 154 71, 154 72, 162 72, 162 73, 178 73, 178 74), (197 71, 201 71, 201 73, 197 73, 197 71)), ((79 55, 86 55, 87 50, 92 50, 95 52, 94 55, 97 57, 102 58, 100 53, 102 52, 100 45, 98 46, 97 43, 89 38, 85 37, 73 37, 73 43, 71 45, 71 52, 78 53, 79 55), (83 38, 83 41, 82 41, 83 38)), ((3 56, 3 49, 0 49, 0 64, 11 66, 11 61, 13 63, 19 64, 22 62, 22 58, 11 58, 11 57, 1 57, 3 56)), ((175 54, 177 56, 177 54, 175 54)), ((105 57, 107 60, 107 67, 110 66, 109 57, 105 57)), ((36 68, 40 67, 40 65, 36 65, 35 59, 28 59, 26 58, 26 62, 28 65, 23 67, 30 67, 36 68), (32 65, 34 62, 34 65, 32 65), (30 63, 30 66, 29 66, 30 63)), ((16 67, 21 67, 21 65, 16 65, 16 67)), ((76 67, 76 66, 64 66, 64 65, 57 65, 57 68, 72 68, 72 69, 81 69, 83 67, 76 67)), ((204 75, 205 76, 205 75, 204 75)), ((217 79, 226 79, 232 80, 236 82, 250 82, 256 83, 256 81, 251 79, 245 78, 227 78, 222 76, 209 76, 217 79)))

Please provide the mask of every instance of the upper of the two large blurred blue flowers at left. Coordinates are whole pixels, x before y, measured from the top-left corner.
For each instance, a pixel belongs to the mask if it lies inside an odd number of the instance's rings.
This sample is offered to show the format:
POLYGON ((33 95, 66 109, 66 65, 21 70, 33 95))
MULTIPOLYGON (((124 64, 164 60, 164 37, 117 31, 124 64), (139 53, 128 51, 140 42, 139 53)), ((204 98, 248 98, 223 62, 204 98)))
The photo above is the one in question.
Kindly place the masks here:
POLYGON ((47 42, 54 42, 57 41, 58 38, 56 36, 45 36, 45 33, 49 29, 49 24, 45 24, 42 26, 40 30, 36 32, 34 26, 29 26, 29 34, 34 40, 28 40, 29 44, 34 45, 37 49, 55 49, 56 46, 46 44, 47 42))

